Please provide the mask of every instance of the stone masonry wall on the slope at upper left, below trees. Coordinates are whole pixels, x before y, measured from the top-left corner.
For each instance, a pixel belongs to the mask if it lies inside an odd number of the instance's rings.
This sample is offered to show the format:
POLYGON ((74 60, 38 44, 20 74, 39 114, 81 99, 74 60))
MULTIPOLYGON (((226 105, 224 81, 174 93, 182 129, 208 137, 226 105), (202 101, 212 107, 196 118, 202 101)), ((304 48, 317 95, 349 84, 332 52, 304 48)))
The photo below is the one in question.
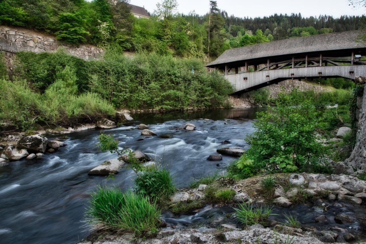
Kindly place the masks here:
POLYGON ((66 52, 76 57, 90 60, 100 58, 103 49, 92 45, 72 45, 57 41, 55 37, 33 32, 31 30, 0 26, 0 51, 16 53, 28 52, 55 52, 63 48, 66 52))

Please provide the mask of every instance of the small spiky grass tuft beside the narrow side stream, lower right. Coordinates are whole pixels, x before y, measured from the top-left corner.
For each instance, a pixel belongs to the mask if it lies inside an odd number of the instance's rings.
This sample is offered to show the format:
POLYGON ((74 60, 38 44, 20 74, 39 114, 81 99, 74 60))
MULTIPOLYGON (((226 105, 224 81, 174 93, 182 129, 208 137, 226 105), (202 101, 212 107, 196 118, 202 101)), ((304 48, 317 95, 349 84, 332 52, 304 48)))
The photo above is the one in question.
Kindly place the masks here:
POLYGON ((239 219, 241 223, 244 225, 255 225, 257 223, 263 223, 266 219, 268 219, 269 215, 272 212, 272 208, 261 206, 261 207, 253 207, 248 204, 238 204, 239 208, 234 208, 236 211, 236 219, 239 219))

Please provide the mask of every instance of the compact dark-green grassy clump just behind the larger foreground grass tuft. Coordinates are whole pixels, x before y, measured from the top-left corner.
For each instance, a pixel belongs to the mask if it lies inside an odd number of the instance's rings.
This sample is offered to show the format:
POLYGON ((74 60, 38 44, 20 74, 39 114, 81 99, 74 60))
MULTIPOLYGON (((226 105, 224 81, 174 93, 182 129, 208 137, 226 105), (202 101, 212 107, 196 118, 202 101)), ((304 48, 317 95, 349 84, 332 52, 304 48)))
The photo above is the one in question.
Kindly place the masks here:
POLYGON ((153 168, 135 178, 135 187, 137 193, 145 196, 168 197, 175 192, 172 181, 169 170, 153 168))

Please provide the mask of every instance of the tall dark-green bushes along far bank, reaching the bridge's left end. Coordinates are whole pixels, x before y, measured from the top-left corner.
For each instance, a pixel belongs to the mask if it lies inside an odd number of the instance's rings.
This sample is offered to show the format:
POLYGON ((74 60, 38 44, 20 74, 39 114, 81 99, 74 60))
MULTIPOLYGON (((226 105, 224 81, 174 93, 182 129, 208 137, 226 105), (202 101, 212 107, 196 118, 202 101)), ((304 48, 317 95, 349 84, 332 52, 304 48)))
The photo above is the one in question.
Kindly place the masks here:
POLYGON ((62 51, 17 53, 16 74, 44 90, 66 66, 75 76, 78 91, 91 91, 115 107, 187 108, 222 106, 231 85, 216 71, 208 73, 197 59, 178 59, 156 53, 134 58, 109 49, 103 60, 85 61, 62 51))

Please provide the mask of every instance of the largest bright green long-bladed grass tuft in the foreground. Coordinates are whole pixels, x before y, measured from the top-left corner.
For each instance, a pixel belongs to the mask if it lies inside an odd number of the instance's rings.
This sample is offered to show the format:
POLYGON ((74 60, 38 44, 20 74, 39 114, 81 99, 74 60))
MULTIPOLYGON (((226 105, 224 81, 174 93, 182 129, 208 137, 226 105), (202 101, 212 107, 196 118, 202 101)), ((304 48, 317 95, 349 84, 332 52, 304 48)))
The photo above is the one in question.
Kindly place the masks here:
POLYGON ((133 232, 141 236, 147 231, 157 232, 160 211, 147 197, 99 186, 89 200, 86 221, 98 228, 133 232))

